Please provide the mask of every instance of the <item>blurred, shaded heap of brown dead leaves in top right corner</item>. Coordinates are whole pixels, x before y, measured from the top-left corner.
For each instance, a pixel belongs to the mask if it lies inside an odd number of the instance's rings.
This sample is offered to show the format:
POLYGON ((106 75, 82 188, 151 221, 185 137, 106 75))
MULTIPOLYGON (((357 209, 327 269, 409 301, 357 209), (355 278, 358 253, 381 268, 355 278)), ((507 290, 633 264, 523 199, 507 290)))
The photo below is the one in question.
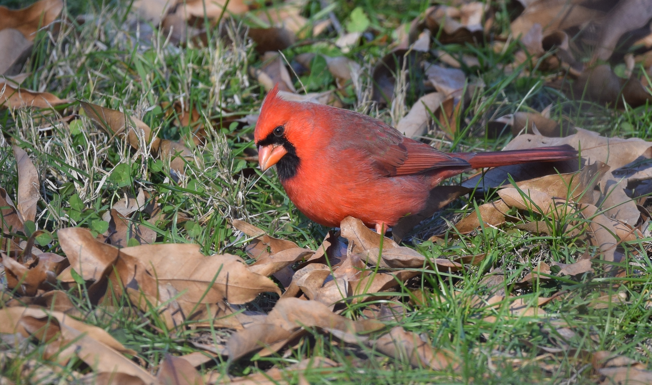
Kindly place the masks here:
MULTIPOLYGON (((514 38, 520 38, 524 49, 516 53, 514 66, 526 68, 565 68, 574 81, 569 85, 561 77, 550 82, 576 100, 592 100, 600 104, 641 106, 652 100, 645 91, 649 72, 649 49, 642 40, 625 40, 649 27, 652 8, 642 1, 621 0, 591 3, 564 0, 528 1, 514 21, 514 38), (577 32, 579 30, 579 33, 577 32), (634 57, 629 47, 643 45, 644 53, 634 57), (592 52, 585 57, 585 52, 592 52), (552 53, 552 55, 551 55, 552 53), (584 63, 583 59, 589 59, 584 63), (605 62, 615 64, 613 67, 605 62), (644 71, 635 68, 644 65, 644 71)), ((502 50, 497 44, 496 50, 502 50)))

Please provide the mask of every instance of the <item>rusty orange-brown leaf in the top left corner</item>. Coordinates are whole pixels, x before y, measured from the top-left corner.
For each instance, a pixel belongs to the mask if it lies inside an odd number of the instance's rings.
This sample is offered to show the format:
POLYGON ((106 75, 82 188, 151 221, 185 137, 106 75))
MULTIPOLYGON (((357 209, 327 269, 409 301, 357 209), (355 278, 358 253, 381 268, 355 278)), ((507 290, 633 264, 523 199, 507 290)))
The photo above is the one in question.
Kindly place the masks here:
POLYGON ((0 29, 18 29, 25 38, 34 40, 36 31, 56 20, 62 9, 61 0, 40 0, 18 10, 0 7, 0 29))

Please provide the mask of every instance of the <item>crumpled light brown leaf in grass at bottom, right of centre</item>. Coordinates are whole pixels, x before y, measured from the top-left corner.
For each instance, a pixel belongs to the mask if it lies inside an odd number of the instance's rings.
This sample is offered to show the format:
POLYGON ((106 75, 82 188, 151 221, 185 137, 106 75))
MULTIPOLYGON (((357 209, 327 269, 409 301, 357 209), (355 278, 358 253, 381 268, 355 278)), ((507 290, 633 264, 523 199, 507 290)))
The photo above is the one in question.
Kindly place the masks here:
POLYGON ((437 351, 430 342, 423 341, 419 335, 406 332, 402 326, 394 326, 388 334, 374 341, 374 347, 381 353, 396 360, 406 360, 414 367, 428 367, 434 370, 456 370, 459 364, 451 354, 437 351))

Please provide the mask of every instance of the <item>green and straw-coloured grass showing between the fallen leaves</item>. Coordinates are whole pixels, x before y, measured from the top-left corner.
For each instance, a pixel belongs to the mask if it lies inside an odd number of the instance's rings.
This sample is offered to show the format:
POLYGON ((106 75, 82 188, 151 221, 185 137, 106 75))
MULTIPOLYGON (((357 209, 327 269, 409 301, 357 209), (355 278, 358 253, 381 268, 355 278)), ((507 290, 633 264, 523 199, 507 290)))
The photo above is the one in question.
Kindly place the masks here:
MULTIPOLYGON (((318 4, 319 1, 310 1, 306 14, 316 13, 318 4)), ((23 7, 25 1, 3 0, 0 5, 23 7)), ((346 20, 357 6, 364 8, 372 27, 378 29, 378 36, 382 36, 391 34, 400 23, 417 17, 427 4, 389 0, 339 1, 336 14, 340 20, 346 20)), ((220 124, 231 115, 243 117, 259 109, 265 92, 255 79, 248 76, 248 66, 259 61, 252 45, 236 42, 226 47, 215 39, 207 48, 177 48, 166 44, 164 36, 155 36, 151 42, 138 40, 138 32, 129 30, 128 9, 126 3, 117 1, 104 4, 70 1, 64 12, 68 12, 71 20, 79 14, 90 16, 86 16, 82 25, 72 23, 57 39, 52 39, 48 31, 39 33, 35 52, 27 64, 31 76, 25 83, 31 89, 49 91, 61 98, 128 111, 158 130, 159 137, 168 139, 179 139, 194 127, 176 124, 175 117, 166 115, 162 104, 181 100, 187 106, 200 109, 201 119, 197 124, 205 125, 210 140, 205 146, 191 146, 195 160, 188 164, 186 177, 175 178, 167 165, 153 161, 147 152, 134 151, 126 143, 110 141, 110 137, 89 119, 82 119, 82 126, 71 130, 67 124, 53 120, 52 115, 2 109, 0 128, 5 143, 0 147, 0 186, 11 196, 15 195, 18 182, 16 166, 8 143, 16 140, 30 152, 42 175, 46 200, 40 203, 39 228, 55 231, 77 225, 93 229, 93 223, 101 219, 113 202, 125 193, 136 195, 142 188, 159 197, 170 218, 182 215, 191 218, 180 225, 174 220, 159 223, 157 242, 196 242, 201 244, 205 253, 230 252, 244 256, 242 246, 246 239, 235 235, 229 221, 240 218, 276 237, 316 248, 328 229, 312 223, 293 207, 272 172, 261 175, 256 169, 257 164, 246 160, 247 150, 252 148, 253 126, 244 122, 220 124), (126 177, 116 171, 121 164, 128 165, 126 177), (124 178, 128 183, 121 183, 124 178), (79 208, 78 202, 83 203, 79 208)), ((509 26, 507 10, 502 17, 499 22, 509 26)), ((233 23, 230 27, 243 26, 233 23)), ((556 90, 544 87, 546 73, 535 71, 518 77, 518 73, 506 74, 499 70, 497 64, 512 62, 511 55, 517 46, 517 43, 512 43, 501 55, 489 47, 442 47, 454 55, 467 53, 479 57, 481 66, 467 75, 469 79, 480 78, 485 84, 462 116, 466 128, 452 141, 442 141, 443 150, 500 149, 511 135, 499 139, 489 139, 484 135, 484 124, 490 117, 512 113, 519 107, 521 111, 541 111, 550 103, 554 104, 552 116, 570 117, 576 126, 610 136, 652 139, 649 124, 652 111, 647 106, 624 110, 589 106, 586 102, 580 106, 556 90)), ((298 53, 310 50, 340 53, 327 42, 288 48, 284 53, 288 61, 292 61, 298 53)), ((370 70, 386 52, 386 44, 376 38, 348 53, 363 66, 363 85, 371 84, 368 79, 370 70)), ((333 89, 333 79, 330 83, 321 83, 320 87, 319 91, 333 89)), ((413 102, 416 97, 418 95, 408 95, 408 101, 413 102)), ((349 102, 347 107, 353 109, 363 109, 368 104, 368 100, 351 99, 349 102)), ((78 113, 79 109, 78 102, 57 108, 61 116, 78 113)), ((379 119, 390 121, 387 109, 370 111, 379 119)), ((469 200, 464 197, 441 215, 450 220, 460 218, 461 213, 469 212, 475 204, 481 203, 480 198, 469 200)), ((141 215, 141 221, 149 219, 147 214, 141 215)), ((530 296, 527 298, 550 296, 560 289, 567 290, 563 300, 544 307, 552 314, 551 319, 539 322, 527 317, 511 319, 503 317, 504 307, 501 308, 503 313, 496 313, 486 307, 464 306, 464 298, 487 294, 482 283, 484 274, 481 273, 502 268, 508 277, 521 277, 525 269, 536 266, 539 261, 574 261, 584 253, 582 246, 578 246, 573 238, 533 236, 511 228, 500 231, 485 229, 478 235, 459 240, 451 238, 443 246, 425 241, 442 223, 437 217, 422 224, 416 231, 418 237, 409 239, 408 246, 434 257, 486 253, 487 258, 481 266, 466 274, 426 274, 410 281, 399 295, 405 302, 411 298, 413 311, 399 324, 406 330, 424 333, 434 346, 456 352, 464 362, 459 373, 413 369, 406 363, 394 362, 381 355, 370 359, 374 356, 370 351, 333 343, 331 337, 321 334, 306 338, 287 356, 254 356, 252 360, 235 364, 216 358, 206 368, 243 375, 272 365, 292 364, 310 356, 327 356, 340 362, 341 369, 329 377, 318 373, 308 375, 306 378, 311 384, 589 383, 593 381, 591 368, 582 356, 582 350, 611 350, 650 367, 652 326, 649 317, 652 307, 649 306, 649 284, 652 282, 652 264, 647 255, 642 253, 637 257, 642 267, 636 274, 618 281, 621 285, 615 290, 627 294, 627 304, 610 304, 606 309, 589 306, 591 299, 610 290, 615 283, 610 278, 585 276, 581 281, 553 280, 532 288, 508 288, 520 290, 520 293, 530 296), (415 291, 439 295, 426 295, 424 300, 416 301, 415 291), (457 292, 455 298, 452 298, 452 292, 457 292), (497 322, 482 322, 488 315, 495 315, 497 322), (554 322, 559 321, 567 322, 568 328, 575 332, 568 341, 556 332, 554 322), (546 356, 541 356, 537 349, 537 346, 559 347, 563 344, 572 349, 546 356)), ((52 250, 57 251, 56 242, 52 244, 52 250)), ((71 293, 79 298, 86 322, 105 328, 126 347, 138 351, 140 357, 152 366, 157 365, 166 352, 185 354, 196 351, 188 343, 190 339, 220 340, 229 334, 223 330, 216 330, 213 334, 186 330, 181 334, 167 335, 156 332, 150 322, 131 317, 126 307, 123 311, 113 309, 110 313, 103 313, 87 304, 83 291, 71 289, 71 293)), ((275 299, 273 294, 261 296, 250 307, 267 310, 275 299)), ((355 308, 349 310, 344 315, 357 311, 355 308)), ((3 375, 17 384, 26 383, 24 378, 21 379, 19 368, 29 360, 42 360, 42 351, 38 347, 25 347, 20 358, 13 360, 3 375)), ((81 362, 74 360, 68 367, 59 369, 61 371, 53 377, 66 378, 66 373, 86 370, 81 362)), ((293 378, 291 381, 297 380, 293 378)), ((50 383, 38 382, 35 378, 30 380, 32 382, 50 383)))

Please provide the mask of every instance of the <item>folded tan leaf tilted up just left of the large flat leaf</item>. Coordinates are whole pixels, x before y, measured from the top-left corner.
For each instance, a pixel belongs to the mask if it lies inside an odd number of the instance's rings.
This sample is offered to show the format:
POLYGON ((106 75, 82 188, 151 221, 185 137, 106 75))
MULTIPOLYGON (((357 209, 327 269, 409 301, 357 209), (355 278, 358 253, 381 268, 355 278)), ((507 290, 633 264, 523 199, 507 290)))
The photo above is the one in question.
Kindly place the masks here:
POLYGON ((99 242, 87 229, 68 227, 57 231, 61 250, 66 253, 70 266, 59 274, 64 282, 73 282, 70 269, 74 269, 85 281, 98 282, 107 276, 118 257, 113 246, 99 242))

